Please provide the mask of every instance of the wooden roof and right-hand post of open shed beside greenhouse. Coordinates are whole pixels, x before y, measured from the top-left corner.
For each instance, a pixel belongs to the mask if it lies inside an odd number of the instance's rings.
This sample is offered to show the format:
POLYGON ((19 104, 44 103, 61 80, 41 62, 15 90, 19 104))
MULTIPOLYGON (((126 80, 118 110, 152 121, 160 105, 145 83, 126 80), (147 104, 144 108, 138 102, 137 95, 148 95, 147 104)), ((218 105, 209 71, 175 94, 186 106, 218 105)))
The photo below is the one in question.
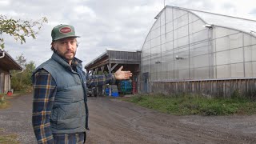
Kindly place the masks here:
POLYGON ((141 63, 141 51, 106 50, 103 54, 86 64, 87 74, 111 74, 123 66, 123 70, 133 73, 133 93, 138 90, 138 75, 141 63))

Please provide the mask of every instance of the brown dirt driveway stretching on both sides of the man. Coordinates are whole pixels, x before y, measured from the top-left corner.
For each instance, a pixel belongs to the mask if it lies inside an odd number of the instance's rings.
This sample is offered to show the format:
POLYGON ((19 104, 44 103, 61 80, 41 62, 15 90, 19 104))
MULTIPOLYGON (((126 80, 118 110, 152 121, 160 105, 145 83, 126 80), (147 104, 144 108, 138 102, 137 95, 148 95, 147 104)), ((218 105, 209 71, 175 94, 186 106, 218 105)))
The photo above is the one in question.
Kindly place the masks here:
MULTIPOLYGON (((31 127, 32 96, 12 98, 0 110, 0 128, 36 143, 31 127)), ((256 115, 174 116, 114 98, 89 98, 90 131, 86 143, 256 143, 256 115)))

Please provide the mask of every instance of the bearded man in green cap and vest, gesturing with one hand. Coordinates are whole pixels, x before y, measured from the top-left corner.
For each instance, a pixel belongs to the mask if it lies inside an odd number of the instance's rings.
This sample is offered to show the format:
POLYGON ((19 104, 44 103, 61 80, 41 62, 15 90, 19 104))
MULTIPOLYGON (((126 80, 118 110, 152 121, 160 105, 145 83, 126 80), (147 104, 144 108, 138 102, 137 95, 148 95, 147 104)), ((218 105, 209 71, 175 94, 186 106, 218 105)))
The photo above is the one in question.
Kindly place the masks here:
POLYGON ((83 143, 88 127, 86 86, 129 79, 122 66, 114 74, 88 76, 75 58, 78 36, 74 26, 59 25, 51 31, 51 58, 32 74, 34 98, 32 123, 38 143, 83 143))

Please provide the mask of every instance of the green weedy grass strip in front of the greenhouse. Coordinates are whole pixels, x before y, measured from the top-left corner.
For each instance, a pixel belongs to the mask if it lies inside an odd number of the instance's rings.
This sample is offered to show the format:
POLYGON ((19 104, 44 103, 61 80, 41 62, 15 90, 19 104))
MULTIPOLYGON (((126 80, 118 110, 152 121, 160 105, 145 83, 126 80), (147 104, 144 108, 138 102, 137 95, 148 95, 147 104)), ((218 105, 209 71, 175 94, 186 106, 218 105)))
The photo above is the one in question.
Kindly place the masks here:
POLYGON ((138 95, 122 98, 139 106, 175 115, 256 114, 256 102, 241 97, 205 98, 200 95, 138 95))

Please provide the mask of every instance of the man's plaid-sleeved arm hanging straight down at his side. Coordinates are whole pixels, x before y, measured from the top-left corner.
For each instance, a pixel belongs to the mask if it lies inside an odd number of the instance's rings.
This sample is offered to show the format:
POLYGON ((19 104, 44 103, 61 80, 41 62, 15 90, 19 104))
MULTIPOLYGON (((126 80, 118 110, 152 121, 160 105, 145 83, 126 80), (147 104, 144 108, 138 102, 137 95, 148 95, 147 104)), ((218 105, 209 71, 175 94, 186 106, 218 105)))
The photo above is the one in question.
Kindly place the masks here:
POLYGON ((34 98, 32 124, 38 143, 54 143, 50 130, 50 114, 56 94, 56 82, 46 70, 39 70, 33 78, 34 98))

